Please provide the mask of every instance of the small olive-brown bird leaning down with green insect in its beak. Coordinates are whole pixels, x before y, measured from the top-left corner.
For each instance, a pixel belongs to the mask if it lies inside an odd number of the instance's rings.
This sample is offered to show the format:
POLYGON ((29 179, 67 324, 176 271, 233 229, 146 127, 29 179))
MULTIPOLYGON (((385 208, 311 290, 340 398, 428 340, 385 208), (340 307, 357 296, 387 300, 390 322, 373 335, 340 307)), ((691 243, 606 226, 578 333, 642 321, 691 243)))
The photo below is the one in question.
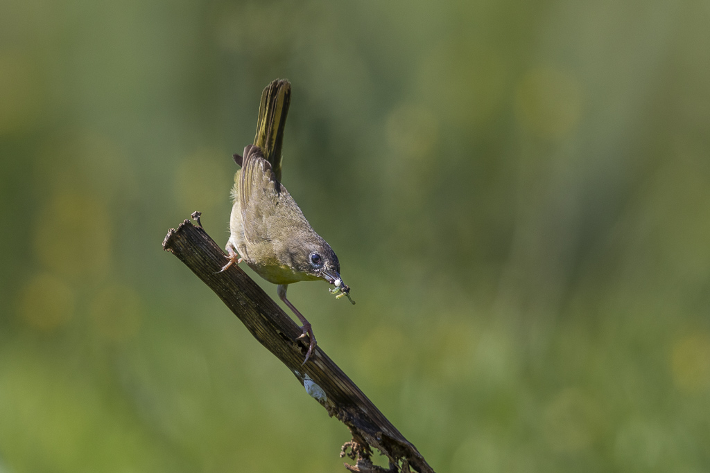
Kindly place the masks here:
MULTIPOLYGON (((330 245, 310 226, 301 209, 281 184, 283 130, 290 104, 291 85, 276 79, 261 94, 254 144, 244 148, 244 156, 234 155, 241 169, 234 174, 226 243, 229 255, 222 271, 246 262, 256 274, 278 284, 280 299, 301 321, 299 338, 310 339, 303 364, 316 347, 311 324, 286 298, 288 284, 324 279, 339 299, 350 299, 350 288, 340 278, 338 257, 330 245)), ((220 272, 222 272, 220 271, 220 272)))

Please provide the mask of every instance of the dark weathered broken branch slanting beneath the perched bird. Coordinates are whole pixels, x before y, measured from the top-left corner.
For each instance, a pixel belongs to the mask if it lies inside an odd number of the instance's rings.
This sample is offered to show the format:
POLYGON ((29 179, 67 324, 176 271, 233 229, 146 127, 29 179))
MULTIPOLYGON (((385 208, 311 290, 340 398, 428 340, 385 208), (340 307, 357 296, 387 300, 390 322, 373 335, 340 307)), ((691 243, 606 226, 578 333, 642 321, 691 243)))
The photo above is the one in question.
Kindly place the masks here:
MULTIPOLYGON (((199 218, 199 213, 193 214, 199 218)), ((199 223, 199 220, 198 220, 199 223)), ((352 440, 343 445, 341 457, 348 455, 356 464, 345 464, 353 472, 401 472, 411 469, 434 473, 414 445, 367 399, 319 347, 305 365, 301 365, 308 345, 298 340, 301 329, 286 313, 236 265, 218 273, 226 255, 200 226, 185 220, 171 228, 163 240, 163 249, 185 263, 204 284, 222 299, 247 330, 275 355, 305 390, 328 411, 347 425, 352 440), (350 449, 347 452, 347 449, 350 449), (386 455, 390 468, 371 462, 372 448, 386 455)))

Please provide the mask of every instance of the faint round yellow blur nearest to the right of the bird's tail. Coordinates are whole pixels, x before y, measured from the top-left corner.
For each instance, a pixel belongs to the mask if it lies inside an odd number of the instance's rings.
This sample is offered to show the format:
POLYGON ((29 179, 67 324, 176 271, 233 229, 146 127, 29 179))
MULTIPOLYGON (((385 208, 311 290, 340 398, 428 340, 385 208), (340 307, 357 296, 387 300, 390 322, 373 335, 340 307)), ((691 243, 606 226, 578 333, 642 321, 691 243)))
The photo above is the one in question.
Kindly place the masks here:
POLYGON ((400 105, 387 118, 387 141, 400 155, 422 160, 430 155, 439 138, 439 122, 430 110, 400 105))

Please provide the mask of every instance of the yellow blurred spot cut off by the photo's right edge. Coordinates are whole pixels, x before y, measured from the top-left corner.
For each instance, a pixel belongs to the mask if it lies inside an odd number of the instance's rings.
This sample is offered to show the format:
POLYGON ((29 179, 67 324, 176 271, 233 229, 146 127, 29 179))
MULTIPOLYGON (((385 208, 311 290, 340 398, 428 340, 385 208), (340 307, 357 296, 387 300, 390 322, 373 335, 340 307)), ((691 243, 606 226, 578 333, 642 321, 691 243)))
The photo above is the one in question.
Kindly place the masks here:
POLYGON ((710 387, 710 333, 676 340, 671 352, 673 381, 681 391, 697 393, 710 387))

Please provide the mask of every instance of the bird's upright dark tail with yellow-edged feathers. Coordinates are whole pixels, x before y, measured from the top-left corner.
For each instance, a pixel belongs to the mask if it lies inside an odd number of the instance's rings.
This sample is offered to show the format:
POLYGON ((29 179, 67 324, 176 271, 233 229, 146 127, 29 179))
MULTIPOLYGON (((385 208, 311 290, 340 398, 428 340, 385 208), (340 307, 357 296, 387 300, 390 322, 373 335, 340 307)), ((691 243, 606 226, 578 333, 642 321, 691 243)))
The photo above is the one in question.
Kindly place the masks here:
POLYGON ((271 163, 274 176, 281 180, 281 147, 286 126, 288 105, 291 101, 291 84, 286 79, 275 79, 261 92, 259 118, 256 122, 254 144, 261 148, 271 163))

